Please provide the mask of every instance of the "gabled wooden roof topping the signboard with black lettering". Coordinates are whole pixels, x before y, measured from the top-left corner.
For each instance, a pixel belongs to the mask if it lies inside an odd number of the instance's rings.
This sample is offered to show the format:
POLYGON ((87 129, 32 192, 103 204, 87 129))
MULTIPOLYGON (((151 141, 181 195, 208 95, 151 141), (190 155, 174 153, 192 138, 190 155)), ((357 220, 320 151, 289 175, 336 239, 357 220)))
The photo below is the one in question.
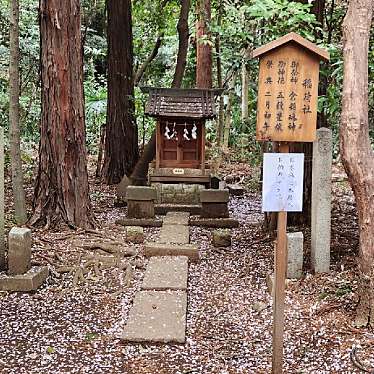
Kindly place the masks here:
POLYGON ((296 34, 295 32, 290 32, 289 34, 284 35, 281 38, 278 38, 268 44, 263 45, 262 47, 255 49, 252 52, 252 57, 260 57, 261 55, 268 53, 273 49, 279 48, 284 44, 292 42, 307 49, 310 53, 317 55, 321 60, 329 61, 330 59, 330 54, 326 50, 318 47, 316 44, 310 42, 309 40, 304 39, 302 36, 296 34))

